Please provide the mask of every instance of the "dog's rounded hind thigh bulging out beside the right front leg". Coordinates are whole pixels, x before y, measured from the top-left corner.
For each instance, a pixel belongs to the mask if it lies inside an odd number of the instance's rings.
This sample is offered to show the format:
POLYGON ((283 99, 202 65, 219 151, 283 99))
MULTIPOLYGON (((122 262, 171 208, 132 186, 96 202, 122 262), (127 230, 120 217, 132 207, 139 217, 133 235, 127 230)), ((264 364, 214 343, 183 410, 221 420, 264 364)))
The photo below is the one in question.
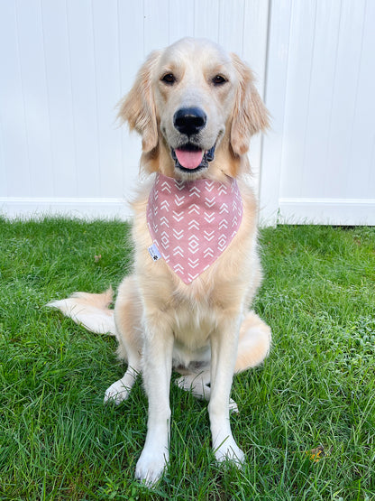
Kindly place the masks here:
POLYGON ((270 352, 270 342, 270 327, 249 311, 242 320, 234 373, 259 366, 270 352))

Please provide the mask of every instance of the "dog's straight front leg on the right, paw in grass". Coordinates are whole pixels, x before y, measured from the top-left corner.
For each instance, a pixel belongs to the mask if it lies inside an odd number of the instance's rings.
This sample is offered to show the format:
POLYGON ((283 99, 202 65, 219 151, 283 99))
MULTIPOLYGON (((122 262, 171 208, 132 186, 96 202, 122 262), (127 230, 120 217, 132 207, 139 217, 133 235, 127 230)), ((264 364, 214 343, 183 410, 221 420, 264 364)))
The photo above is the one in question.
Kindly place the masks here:
POLYGON ((237 356, 240 315, 224 318, 211 335, 211 397, 208 404, 215 458, 242 463, 244 454, 233 439, 229 422, 229 398, 237 356))

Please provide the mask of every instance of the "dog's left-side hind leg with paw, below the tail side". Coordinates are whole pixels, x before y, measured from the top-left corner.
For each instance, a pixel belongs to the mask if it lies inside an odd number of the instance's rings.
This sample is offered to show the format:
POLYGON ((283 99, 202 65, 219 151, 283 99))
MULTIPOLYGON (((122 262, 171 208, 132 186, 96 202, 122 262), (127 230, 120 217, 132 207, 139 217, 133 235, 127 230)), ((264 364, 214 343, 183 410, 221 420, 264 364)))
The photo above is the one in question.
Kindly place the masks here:
POLYGON ((114 321, 119 346, 117 355, 127 361, 123 377, 110 385, 105 392, 105 402, 121 404, 132 390, 137 376, 142 372, 142 304, 133 276, 121 283, 114 306, 114 321))

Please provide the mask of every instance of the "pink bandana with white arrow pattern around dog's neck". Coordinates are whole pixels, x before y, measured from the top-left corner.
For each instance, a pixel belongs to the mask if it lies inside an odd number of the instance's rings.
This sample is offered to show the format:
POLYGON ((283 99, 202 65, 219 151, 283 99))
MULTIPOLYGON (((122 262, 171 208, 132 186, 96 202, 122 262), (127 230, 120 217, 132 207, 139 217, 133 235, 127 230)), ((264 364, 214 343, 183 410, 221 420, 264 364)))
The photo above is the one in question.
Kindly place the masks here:
POLYGON ((161 256, 191 283, 221 255, 242 220, 237 182, 177 181, 157 174, 147 206, 154 260, 161 256))

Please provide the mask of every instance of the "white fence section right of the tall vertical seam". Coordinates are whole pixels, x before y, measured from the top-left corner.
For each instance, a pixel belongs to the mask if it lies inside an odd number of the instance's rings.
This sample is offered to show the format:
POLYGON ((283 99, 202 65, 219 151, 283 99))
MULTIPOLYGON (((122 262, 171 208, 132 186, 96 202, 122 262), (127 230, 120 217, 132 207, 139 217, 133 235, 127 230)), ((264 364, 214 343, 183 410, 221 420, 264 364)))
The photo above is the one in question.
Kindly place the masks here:
POLYGON ((275 1, 270 23, 267 216, 375 224, 374 2, 275 1))

